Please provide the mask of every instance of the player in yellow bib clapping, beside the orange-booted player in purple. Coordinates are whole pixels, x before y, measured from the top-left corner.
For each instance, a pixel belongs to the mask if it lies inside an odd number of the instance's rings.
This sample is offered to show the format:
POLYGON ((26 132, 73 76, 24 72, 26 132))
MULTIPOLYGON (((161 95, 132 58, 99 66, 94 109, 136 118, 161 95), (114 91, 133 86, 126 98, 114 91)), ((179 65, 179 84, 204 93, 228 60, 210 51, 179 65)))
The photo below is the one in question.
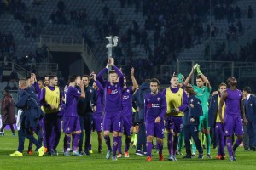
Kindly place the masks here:
POLYGON ((169 161, 177 161, 176 150, 178 143, 178 136, 181 133, 183 126, 183 111, 188 106, 188 97, 182 88, 178 86, 178 77, 173 75, 171 78, 171 86, 163 90, 166 95, 167 103, 167 119, 166 129, 168 132, 167 146, 169 150, 169 161), (174 138, 172 140, 172 136, 174 138))

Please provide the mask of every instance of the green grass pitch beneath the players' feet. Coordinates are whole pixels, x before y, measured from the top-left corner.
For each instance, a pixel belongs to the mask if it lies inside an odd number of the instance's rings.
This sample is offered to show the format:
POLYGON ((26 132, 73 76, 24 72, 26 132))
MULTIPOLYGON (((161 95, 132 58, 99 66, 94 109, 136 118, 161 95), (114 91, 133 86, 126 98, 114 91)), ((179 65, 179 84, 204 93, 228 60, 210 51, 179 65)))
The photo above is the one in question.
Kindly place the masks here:
MULTIPOLYGON (((5 169, 183 169, 183 170, 208 170, 208 169, 218 169, 218 170, 228 170, 228 169, 239 169, 239 170, 255 170, 256 169, 256 152, 254 151, 244 151, 242 147, 236 150, 236 161, 230 162, 228 152, 226 152, 226 160, 216 160, 217 149, 213 150, 211 148, 212 159, 206 158, 206 150, 204 150, 204 159, 199 160, 197 158, 193 159, 183 159, 185 149, 183 149, 183 156, 177 156, 177 161, 167 161, 167 148, 166 139, 165 147, 163 150, 165 161, 158 161, 158 154, 153 153, 153 161, 145 162, 145 156, 136 156, 135 149, 130 148, 130 158, 119 158, 118 161, 112 161, 110 158, 106 160, 106 144, 103 143, 103 154, 97 153, 97 138, 96 133, 93 133, 92 147, 93 154, 90 156, 69 156, 64 157, 62 155, 63 147, 63 136, 61 133, 61 141, 58 147, 59 156, 38 156, 38 152, 34 152, 32 156, 26 154, 28 141, 26 139, 25 150, 23 156, 9 156, 9 154, 17 150, 18 136, 12 136, 10 131, 6 130, 4 136, 0 136, 0 170, 5 169)), ((125 139, 123 138, 123 149, 124 152, 125 139)), ((33 145, 33 150, 35 146, 33 145)))

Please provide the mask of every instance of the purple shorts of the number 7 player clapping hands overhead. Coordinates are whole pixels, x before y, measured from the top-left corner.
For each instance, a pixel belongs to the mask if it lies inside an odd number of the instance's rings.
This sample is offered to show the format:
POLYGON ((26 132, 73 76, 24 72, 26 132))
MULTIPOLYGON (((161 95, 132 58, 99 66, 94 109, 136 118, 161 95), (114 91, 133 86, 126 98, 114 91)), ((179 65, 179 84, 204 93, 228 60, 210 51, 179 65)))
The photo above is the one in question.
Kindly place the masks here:
POLYGON ((103 118, 103 131, 120 132, 121 111, 105 111, 103 118))

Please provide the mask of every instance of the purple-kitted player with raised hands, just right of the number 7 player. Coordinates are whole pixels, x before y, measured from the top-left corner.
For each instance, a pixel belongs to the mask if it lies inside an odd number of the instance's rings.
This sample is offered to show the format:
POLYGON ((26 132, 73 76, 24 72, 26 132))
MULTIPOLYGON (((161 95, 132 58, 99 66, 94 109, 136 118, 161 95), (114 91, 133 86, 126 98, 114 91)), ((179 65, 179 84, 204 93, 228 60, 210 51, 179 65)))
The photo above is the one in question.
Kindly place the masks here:
POLYGON ((134 77, 134 68, 131 68, 132 87, 127 87, 126 77, 124 76, 124 88, 122 92, 122 113, 121 113, 121 131, 119 133, 118 158, 122 156, 122 135, 125 134, 125 157, 129 157, 129 148, 131 143, 132 127, 132 94, 138 88, 137 81, 134 77))

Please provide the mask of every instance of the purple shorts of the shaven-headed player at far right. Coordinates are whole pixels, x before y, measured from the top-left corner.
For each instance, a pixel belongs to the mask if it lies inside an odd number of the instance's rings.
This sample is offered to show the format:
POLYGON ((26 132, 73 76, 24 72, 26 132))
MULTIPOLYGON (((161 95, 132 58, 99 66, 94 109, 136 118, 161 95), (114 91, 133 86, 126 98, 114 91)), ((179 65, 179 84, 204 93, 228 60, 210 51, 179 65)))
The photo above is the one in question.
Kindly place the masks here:
POLYGON ((240 115, 224 115, 224 136, 243 134, 243 127, 240 115))

